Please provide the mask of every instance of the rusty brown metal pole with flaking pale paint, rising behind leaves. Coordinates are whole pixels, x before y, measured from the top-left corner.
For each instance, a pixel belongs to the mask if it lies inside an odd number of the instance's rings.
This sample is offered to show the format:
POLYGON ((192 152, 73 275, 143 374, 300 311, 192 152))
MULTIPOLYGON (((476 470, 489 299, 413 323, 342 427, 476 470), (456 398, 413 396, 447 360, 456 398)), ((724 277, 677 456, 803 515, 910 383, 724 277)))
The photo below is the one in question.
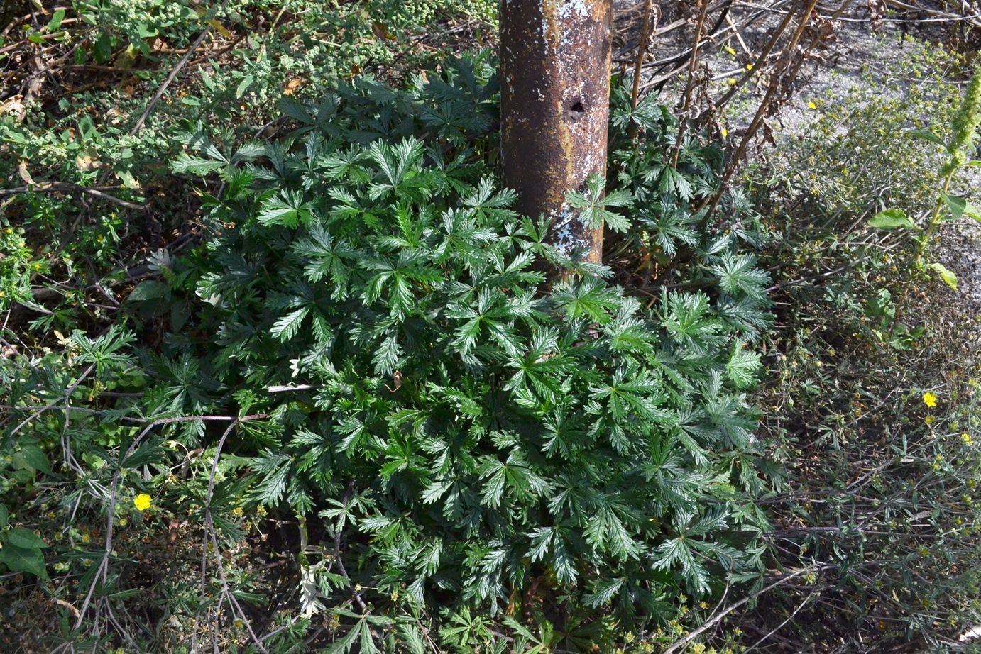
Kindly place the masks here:
POLYGON ((504 184, 518 210, 552 219, 566 254, 602 258, 602 228, 565 204, 606 172, 611 0, 501 0, 501 142, 504 184))

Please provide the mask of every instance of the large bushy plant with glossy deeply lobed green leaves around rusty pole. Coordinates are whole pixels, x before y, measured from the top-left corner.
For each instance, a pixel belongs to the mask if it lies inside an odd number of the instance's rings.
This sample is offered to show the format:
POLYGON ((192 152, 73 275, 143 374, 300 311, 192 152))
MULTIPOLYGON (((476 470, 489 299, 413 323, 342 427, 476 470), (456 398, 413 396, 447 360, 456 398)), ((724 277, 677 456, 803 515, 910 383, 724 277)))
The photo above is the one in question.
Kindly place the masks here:
POLYGON ((420 612, 525 616, 585 650, 611 614, 663 622, 666 597, 763 570, 752 498, 773 479, 745 393, 769 278, 747 229, 670 223, 717 169, 690 138, 667 170, 655 153, 676 130, 645 105, 608 189, 620 213, 591 195, 688 261, 647 309, 511 209, 494 78, 487 58, 453 61, 407 90, 286 98, 295 128, 275 141, 187 134, 173 168, 221 190, 203 193, 214 236, 130 302, 181 317, 148 415, 268 416, 223 441, 247 465, 214 494, 247 486, 295 518, 299 608, 335 612, 344 650, 398 640, 383 617, 420 612), (200 388, 166 390, 175 371, 200 388))

